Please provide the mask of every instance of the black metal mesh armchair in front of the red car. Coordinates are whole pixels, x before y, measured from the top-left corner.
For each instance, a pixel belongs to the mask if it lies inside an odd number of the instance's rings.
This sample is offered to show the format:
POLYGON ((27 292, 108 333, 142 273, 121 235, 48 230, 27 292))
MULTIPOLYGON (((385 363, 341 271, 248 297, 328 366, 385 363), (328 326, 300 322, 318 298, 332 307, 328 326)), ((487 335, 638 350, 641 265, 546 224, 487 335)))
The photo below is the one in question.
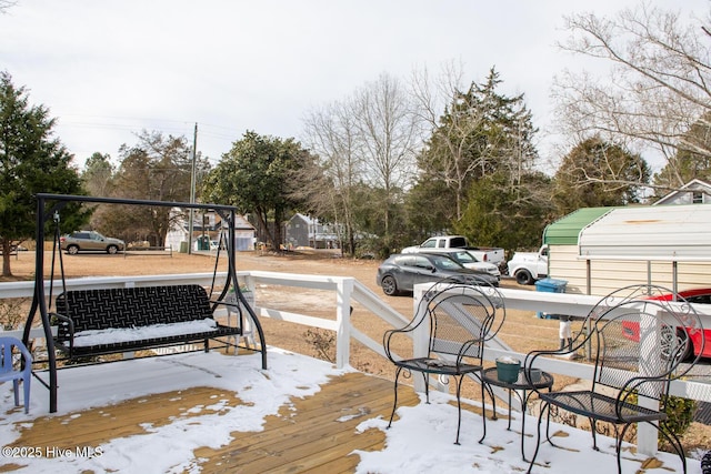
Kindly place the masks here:
MULTIPOLYGON (((700 355, 693 355, 691 337, 700 342, 701 354, 703 329, 694 309, 681 297, 675 302, 668 301, 669 294, 673 295, 673 292, 648 284, 620 289, 598 302, 570 347, 528 354, 524 371, 529 377, 537 359, 544 355, 560 356, 582 351, 594 364, 590 390, 539 392, 538 442, 529 473, 541 446, 543 414, 548 412, 550 426, 551 407, 589 418, 597 451, 597 423, 612 424, 619 473, 622 472, 622 441, 635 423, 654 426, 681 457, 683 472, 687 472, 684 451, 668 425, 664 404, 670 382, 687 374, 699 360, 700 355)), ((545 436, 554 446, 548 426, 545 436)))

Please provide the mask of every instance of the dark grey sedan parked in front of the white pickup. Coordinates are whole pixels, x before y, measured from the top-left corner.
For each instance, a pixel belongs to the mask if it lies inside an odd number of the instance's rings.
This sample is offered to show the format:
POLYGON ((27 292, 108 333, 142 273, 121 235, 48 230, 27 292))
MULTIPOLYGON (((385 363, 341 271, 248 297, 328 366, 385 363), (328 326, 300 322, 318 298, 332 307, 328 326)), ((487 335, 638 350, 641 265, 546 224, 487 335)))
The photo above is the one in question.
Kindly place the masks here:
POLYGON ((378 268, 375 281, 387 295, 411 292, 418 283, 454 279, 462 283, 499 285, 489 273, 464 268, 447 255, 434 253, 397 253, 378 268))

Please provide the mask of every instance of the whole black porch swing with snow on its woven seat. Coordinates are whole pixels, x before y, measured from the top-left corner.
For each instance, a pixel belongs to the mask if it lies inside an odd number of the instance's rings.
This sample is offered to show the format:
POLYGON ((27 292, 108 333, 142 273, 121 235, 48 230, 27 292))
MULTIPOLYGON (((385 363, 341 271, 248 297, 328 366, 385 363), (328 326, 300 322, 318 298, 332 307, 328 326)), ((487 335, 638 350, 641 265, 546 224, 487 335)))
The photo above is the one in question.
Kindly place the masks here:
POLYGON ((50 413, 57 412, 58 383, 57 362, 86 363, 107 354, 132 353, 138 350, 156 350, 167 346, 203 343, 208 352, 216 347, 237 347, 240 337, 246 337, 246 322, 249 334, 259 335, 259 344, 240 346, 261 353, 261 367, 267 369, 267 344, 264 333, 253 309, 240 291, 237 280, 234 254, 236 208, 219 204, 184 202, 143 201, 81 195, 37 194, 37 251, 34 269, 34 291, 24 324, 22 341, 29 343, 30 330, 39 312, 47 341, 46 361, 49 382, 37 376, 50 392, 50 413), (220 244, 218 245, 214 270, 209 291, 198 284, 141 285, 140 281, 107 283, 107 288, 96 284, 67 281, 60 249, 60 211, 69 203, 123 204, 161 208, 202 209, 217 212, 222 220, 220 244), (52 261, 49 285, 44 281, 46 226, 53 225, 52 261), (227 253, 228 270, 220 286, 218 276, 222 248, 227 253), (53 299, 54 271, 59 269, 61 293, 53 299), (70 288, 68 288, 70 286, 70 288), (46 288, 49 294, 46 294, 46 288), (216 294, 217 299, 211 299, 216 294), (54 310, 52 311, 52 301, 54 310), (236 324, 217 321, 214 312, 228 309, 237 315, 236 324), (56 330, 56 332, 54 332, 56 330), (234 341, 231 343, 230 341, 234 341), (212 342, 212 345, 210 343, 212 342), (57 357, 58 352, 61 359, 57 357))

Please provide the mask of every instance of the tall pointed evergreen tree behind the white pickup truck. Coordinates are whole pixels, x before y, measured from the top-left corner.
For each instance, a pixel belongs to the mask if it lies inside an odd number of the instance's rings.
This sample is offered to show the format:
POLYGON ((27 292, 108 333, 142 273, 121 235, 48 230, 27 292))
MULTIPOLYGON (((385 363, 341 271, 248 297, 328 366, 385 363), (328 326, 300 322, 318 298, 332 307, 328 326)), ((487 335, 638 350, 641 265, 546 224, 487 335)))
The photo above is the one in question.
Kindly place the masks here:
MULTIPOLYGON (((532 139, 537 132, 523 95, 508 97, 499 92, 502 80, 492 68, 481 84, 454 93, 440 118, 424 151, 419 155, 420 177, 410 194, 411 220, 427 223, 427 233, 442 232, 464 220, 467 200, 474 194, 483 199, 493 194, 478 193, 485 185, 501 186, 501 195, 520 199, 535 190, 520 190, 530 180, 538 158, 532 139), (505 175, 507 179, 501 179, 505 175), (439 222, 432 222, 431 210, 441 210, 439 222), (449 209, 449 212, 447 211, 449 209), (419 210, 419 212, 418 212, 419 210)), ((509 203, 517 206, 517 202, 509 203)), ((522 203, 521 205, 523 205, 522 203)), ((488 212, 482 202, 483 211, 488 212)), ((497 202, 491 202, 491 208, 497 202)), ((498 219, 508 219, 499 215, 498 219)))

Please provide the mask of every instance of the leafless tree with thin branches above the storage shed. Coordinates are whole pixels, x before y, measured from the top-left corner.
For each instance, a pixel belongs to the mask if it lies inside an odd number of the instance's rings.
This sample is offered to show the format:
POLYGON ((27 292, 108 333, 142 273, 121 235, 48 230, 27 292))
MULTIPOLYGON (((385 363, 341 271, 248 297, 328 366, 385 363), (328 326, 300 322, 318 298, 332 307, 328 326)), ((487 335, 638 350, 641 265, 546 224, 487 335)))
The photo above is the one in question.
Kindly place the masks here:
POLYGON ((565 23, 564 50, 610 65, 609 81, 570 71, 555 79, 557 115, 574 142, 598 135, 651 148, 668 162, 680 150, 711 157, 708 142, 687 133, 711 111, 711 38, 699 20, 643 3, 614 18, 585 13, 565 23))

